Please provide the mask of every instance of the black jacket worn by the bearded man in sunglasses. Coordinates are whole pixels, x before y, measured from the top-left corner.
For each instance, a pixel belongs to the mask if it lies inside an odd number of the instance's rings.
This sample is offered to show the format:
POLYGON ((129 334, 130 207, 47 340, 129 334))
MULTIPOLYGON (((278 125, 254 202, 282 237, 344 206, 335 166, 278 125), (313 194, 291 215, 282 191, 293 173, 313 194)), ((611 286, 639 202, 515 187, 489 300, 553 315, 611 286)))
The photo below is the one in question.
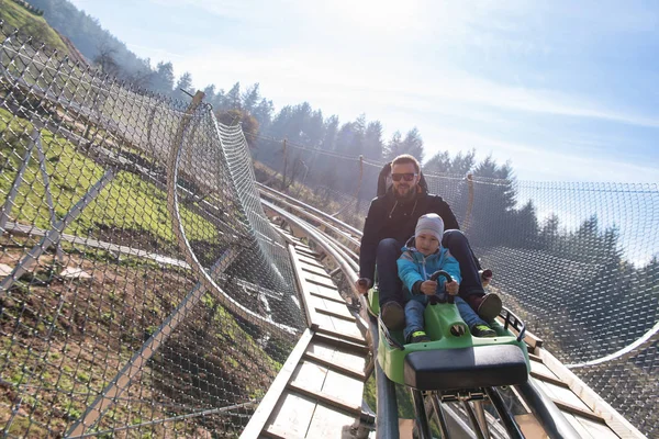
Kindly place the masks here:
POLYGON ((410 201, 396 201, 390 188, 382 196, 371 201, 364 224, 364 236, 359 250, 359 275, 373 280, 378 244, 386 238, 394 238, 403 244, 414 235, 416 222, 426 213, 436 213, 444 219, 444 229, 460 228, 448 203, 439 195, 432 195, 418 189, 420 193, 410 201))

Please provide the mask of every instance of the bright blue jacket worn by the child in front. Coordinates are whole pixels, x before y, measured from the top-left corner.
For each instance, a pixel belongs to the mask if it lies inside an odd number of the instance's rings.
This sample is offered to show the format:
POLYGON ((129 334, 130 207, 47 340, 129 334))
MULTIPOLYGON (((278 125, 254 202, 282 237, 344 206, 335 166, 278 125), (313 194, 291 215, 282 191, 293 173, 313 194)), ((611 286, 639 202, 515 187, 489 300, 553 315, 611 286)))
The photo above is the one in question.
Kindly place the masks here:
MULTIPOLYGON (((417 281, 427 281, 437 270, 444 270, 450 274, 454 281, 460 283, 460 266, 448 249, 439 246, 433 255, 423 256, 421 251, 414 248, 414 237, 410 238, 402 248, 403 254, 398 259, 399 278, 403 281, 406 300, 424 294, 413 294, 412 288, 417 281)), ((445 279, 437 279, 437 291, 444 291, 445 279)), ((416 297, 418 299, 418 297, 416 297)))

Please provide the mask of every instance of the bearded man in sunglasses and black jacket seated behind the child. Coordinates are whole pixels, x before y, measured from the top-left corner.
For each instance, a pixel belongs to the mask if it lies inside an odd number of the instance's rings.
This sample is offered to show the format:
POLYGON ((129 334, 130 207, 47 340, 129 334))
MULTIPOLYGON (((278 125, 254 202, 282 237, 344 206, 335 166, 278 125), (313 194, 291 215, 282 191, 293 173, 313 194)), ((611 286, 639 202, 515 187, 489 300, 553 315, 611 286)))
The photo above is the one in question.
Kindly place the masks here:
POLYGON ((393 185, 384 195, 373 199, 368 210, 359 251, 357 290, 361 294, 368 292, 378 266, 382 322, 390 329, 402 329, 405 314, 396 260, 404 243, 414 235, 418 218, 426 213, 436 213, 442 216, 446 227, 442 245, 460 264, 460 296, 485 322, 494 319, 501 312, 501 299, 496 294, 485 295, 469 243, 459 230, 458 221, 448 203, 418 184, 418 161, 406 154, 398 156, 391 162, 391 179, 393 185))

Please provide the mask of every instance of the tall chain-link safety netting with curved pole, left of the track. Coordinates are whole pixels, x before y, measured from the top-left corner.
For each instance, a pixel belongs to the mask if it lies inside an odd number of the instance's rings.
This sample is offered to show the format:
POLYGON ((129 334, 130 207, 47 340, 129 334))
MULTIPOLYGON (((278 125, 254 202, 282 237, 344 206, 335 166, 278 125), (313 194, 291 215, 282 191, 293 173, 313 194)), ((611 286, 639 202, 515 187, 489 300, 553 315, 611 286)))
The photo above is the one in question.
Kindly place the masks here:
POLYGON ((239 434, 306 326, 239 127, 0 41, 0 436, 239 434))

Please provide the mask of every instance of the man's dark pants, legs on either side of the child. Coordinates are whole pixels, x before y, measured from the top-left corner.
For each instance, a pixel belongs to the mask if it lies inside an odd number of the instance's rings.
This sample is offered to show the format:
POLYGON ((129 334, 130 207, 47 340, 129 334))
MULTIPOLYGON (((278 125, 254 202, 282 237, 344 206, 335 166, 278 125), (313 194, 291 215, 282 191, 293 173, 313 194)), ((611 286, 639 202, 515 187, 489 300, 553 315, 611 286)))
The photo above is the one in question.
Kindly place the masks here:
MULTIPOLYGON (((462 232, 444 232, 442 245, 450 251, 460 264, 460 274, 462 275, 459 290, 460 296, 467 300, 470 295, 483 295, 484 291, 480 282, 473 252, 462 232)), ((393 238, 382 239, 378 245, 376 266, 378 267, 378 284, 380 286, 380 307, 391 301, 395 301, 401 305, 404 302, 403 283, 398 275, 398 264, 395 262, 401 256, 402 247, 403 244, 393 238)))

